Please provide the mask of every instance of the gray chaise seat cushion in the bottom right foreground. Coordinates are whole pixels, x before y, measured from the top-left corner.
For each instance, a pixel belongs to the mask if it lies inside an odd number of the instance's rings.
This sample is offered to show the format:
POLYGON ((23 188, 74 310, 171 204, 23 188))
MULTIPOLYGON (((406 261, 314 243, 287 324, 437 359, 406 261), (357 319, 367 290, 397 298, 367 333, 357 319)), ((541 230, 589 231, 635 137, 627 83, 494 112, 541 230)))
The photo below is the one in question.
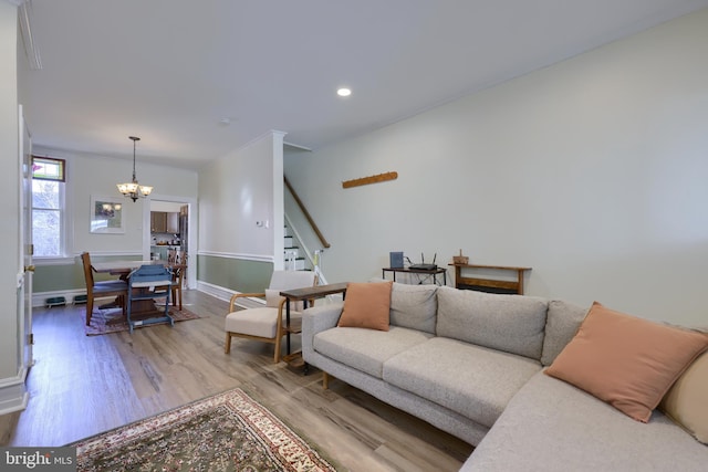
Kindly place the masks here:
POLYGON ((656 411, 648 423, 538 374, 461 471, 705 471, 708 447, 656 411))

